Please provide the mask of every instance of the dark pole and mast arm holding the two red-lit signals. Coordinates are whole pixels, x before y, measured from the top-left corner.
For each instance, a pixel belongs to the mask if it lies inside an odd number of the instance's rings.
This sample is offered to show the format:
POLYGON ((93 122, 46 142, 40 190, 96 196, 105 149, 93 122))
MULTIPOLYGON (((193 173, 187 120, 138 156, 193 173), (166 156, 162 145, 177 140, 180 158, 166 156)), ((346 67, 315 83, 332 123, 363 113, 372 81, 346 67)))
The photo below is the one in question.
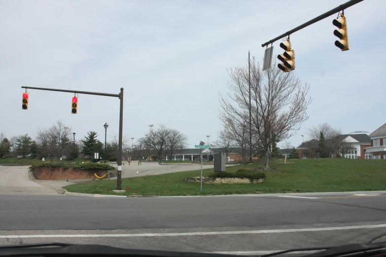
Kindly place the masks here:
POLYGON ((118 139, 118 174, 117 174, 117 190, 121 190, 122 184, 122 130, 123 130, 123 88, 119 94, 105 94, 98 92, 87 92, 87 91, 76 91, 76 90, 64 90, 64 89, 52 89, 52 88, 34 88, 34 87, 22 87, 27 89, 36 89, 36 90, 46 90, 46 91, 56 91, 56 92, 65 92, 65 93, 74 93, 74 94, 84 94, 84 95, 95 95, 95 96, 112 96, 118 97, 120 99, 119 106, 119 139, 118 139))

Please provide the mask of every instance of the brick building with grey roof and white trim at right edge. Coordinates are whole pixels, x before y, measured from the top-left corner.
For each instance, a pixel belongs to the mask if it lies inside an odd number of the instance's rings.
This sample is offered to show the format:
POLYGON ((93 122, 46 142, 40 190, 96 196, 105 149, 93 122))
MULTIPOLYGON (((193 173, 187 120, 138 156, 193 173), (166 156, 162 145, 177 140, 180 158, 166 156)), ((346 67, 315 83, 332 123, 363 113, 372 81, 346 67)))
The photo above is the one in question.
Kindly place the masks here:
POLYGON ((370 147, 365 148, 369 159, 386 160, 386 123, 377 128, 369 135, 371 139, 370 147))

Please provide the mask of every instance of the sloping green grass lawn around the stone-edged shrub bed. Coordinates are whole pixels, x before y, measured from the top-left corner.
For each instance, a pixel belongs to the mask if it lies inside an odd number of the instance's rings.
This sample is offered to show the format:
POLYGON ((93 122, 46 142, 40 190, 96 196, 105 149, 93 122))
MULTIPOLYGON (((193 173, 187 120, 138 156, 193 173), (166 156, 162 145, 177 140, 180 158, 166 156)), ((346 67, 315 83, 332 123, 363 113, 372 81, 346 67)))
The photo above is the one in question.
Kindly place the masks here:
MULTIPOLYGON (((257 184, 203 184, 185 182, 200 176, 200 170, 122 179, 123 195, 213 195, 245 193, 306 193, 386 190, 386 161, 351 159, 283 160, 270 163, 267 178, 257 184), (138 192, 136 192, 138 189, 138 192)), ((226 167, 227 172, 240 168, 261 168, 263 163, 226 167)), ((203 170, 207 176, 213 169, 203 170)), ((65 187, 69 192, 114 194, 116 180, 81 183, 65 187), (109 189, 109 191, 107 191, 109 189)))

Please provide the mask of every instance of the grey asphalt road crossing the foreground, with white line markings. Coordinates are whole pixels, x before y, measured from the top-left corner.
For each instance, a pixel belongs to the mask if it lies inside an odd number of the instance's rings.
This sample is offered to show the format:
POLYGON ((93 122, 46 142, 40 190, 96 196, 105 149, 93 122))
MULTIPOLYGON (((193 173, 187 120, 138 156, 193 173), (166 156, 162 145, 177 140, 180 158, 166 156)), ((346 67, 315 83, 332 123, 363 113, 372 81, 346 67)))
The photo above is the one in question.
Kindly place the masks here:
POLYGON ((370 243, 386 235, 386 193, 82 197, 0 194, 0 245, 38 242, 262 254, 370 243))

